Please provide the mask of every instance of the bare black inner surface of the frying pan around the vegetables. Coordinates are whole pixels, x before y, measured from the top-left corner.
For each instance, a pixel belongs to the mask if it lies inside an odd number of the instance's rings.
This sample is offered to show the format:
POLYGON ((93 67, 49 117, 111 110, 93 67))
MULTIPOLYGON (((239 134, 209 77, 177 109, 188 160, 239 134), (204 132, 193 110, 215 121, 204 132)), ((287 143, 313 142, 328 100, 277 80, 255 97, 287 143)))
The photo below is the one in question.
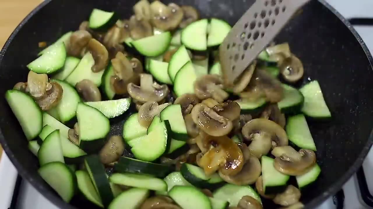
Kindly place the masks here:
MULTIPOLYGON (((195 6, 203 17, 221 18, 231 25, 253 3, 253 0, 162 1, 195 6)), ((135 2, 44 1, 26 16, 0 52, 0 95, 15 83, 26 80, 26 64, 40 51, 38 42, 53 43, 63 33, 76 30, 83 20, 88 19, 93 8, 115 10, 121 18, 129 18, 135 2)), ((309 121, 322 173, 310 188, 302 191, 301 201, 306 208, 314 208, 335 194, 357 171, 372 145, 373 58, 350 23, 324 0, 314 0, 304 6, 275 41, 289 42, 292 53, 303 61, 303 83, 318 80, 332 112, 330 121, 309 121)), ((37 158, 28 151, 21 126, 4 97, 0 97, 0 109, 0 142, 19 174, 56 206, 85 208, 79 201, 73 201, 71 205, 63 202, 41 179, 37 173, 37 158)), ((120 119, 125 119, 130 112, 120 119)), ((116 122, 110 134, 121 133, 122 124, 123 121, 116 122)), ((272 206, 264 202, 264 208, 272 206)))

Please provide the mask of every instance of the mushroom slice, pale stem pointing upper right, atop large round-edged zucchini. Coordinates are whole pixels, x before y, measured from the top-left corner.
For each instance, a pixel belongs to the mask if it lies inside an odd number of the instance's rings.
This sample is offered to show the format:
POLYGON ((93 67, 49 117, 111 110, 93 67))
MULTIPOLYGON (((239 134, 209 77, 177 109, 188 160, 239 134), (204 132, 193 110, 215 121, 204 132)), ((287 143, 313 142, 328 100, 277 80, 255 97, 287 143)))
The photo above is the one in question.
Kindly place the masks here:
POLYGON ((149 127, 154 116, 159 115, 159 113, 169 105, 171 105, 171 103, 158 105, 157 102, 145 102, 139 110, 138 122, 144 127, 149 127))

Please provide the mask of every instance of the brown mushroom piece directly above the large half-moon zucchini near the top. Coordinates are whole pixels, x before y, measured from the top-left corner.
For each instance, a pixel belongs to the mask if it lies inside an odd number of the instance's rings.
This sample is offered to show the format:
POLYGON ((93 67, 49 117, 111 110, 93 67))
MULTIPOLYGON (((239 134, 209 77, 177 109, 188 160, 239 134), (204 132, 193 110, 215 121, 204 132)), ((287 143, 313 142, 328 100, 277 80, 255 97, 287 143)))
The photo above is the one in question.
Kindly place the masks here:
POLYGON ((129 19, 129 29, 131 38, 134 40, 153 35, 153 27, 151 27, 148 20, 137 19, 135 16, 129 19))

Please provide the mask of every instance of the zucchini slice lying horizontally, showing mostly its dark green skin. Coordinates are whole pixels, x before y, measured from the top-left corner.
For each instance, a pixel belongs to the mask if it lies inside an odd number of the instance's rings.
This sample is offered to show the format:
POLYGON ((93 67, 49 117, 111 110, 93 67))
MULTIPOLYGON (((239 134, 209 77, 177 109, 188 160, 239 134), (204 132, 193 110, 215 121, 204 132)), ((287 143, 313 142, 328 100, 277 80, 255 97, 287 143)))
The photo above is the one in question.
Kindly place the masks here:
POLYGON ((128 157, 120 157, 114 166, 114 171, 119 173, 143 173, 163 178, 173 168, 166 164, 150 163, 128 157))

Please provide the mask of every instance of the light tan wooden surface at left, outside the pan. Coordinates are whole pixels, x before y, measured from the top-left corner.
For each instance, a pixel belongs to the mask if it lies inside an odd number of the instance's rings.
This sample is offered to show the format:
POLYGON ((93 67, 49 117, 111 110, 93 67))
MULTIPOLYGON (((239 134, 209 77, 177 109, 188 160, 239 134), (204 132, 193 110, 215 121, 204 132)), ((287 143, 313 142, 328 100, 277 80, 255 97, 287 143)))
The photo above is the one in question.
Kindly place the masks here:
MULTIPOLYGON (((43 0, 0 0, 0 49, 3 48, 10 34, 43 0)), ((3 149, 0 145, 0 157, 3 149)))

